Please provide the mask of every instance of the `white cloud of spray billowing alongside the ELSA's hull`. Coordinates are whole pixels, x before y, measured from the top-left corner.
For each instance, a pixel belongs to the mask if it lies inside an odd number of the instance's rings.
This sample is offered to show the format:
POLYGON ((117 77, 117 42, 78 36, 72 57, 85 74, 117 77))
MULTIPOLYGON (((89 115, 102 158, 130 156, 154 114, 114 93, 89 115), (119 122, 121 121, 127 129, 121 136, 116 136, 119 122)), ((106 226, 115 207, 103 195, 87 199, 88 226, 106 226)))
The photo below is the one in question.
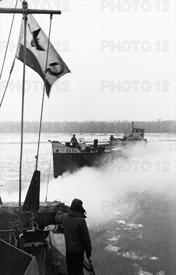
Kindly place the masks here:
MULTIPOLYGON (((172 149, 143 148, 135 145, 123 150, 124 157, 103 162, 101 167, 83 167, 49 182, 48 200, 58 199, 70 205, 73 198, 83 201, 88 224, 107 222, 123 202, 126 193, 150 191, 172 193, 175 158, 172 149), (110 207, 112 206, 112 207, 110 207)), ((41 190, 41 200, 45 189, 41 190)), ((129 201, 130 203, 130 201, 129 201)))

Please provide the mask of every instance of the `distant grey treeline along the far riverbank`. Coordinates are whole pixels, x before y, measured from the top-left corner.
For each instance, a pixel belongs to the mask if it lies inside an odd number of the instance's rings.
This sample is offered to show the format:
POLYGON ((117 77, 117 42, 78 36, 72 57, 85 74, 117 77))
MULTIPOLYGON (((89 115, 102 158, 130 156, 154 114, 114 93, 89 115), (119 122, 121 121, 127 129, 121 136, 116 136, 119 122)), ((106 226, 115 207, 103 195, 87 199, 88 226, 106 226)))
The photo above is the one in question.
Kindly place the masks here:
MULTIPOLYGON (((175 120, 134 121, 134 127, 144 128, 147 133, 175 133, 175 120)), ((24 121, 24 132, 38 132, 39 121, 24 121)), ((131 131, 132 121, 43 121, 41 132, 59 133, 122 133, 131 131)), ((20 132, 20 121, 1 121, 0 132, 20 132)))

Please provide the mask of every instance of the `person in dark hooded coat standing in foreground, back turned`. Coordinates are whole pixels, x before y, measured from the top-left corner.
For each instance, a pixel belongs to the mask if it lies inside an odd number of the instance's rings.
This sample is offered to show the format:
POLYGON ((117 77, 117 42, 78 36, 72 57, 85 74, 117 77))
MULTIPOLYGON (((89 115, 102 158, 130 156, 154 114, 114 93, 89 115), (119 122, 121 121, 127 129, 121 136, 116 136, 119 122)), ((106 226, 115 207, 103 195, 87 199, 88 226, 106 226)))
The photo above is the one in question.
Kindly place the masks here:
POLYGON ((67 213, 59 209, 55 216, 56 223, 61 224, 63 228, 69 275, 82 275, 84 250, 87 258, 91 255, 92 247, 84 213, 86 212, 82 207, 82 201, 74 198, 67 213))

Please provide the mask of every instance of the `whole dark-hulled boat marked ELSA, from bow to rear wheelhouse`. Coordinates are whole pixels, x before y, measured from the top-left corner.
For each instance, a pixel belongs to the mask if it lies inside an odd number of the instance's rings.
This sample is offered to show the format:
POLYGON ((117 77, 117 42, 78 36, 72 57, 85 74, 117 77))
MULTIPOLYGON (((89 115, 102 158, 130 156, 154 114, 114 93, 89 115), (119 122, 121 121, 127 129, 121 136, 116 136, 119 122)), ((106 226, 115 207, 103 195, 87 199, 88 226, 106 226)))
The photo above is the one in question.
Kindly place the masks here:
POLYGON ((144 142, 144 129, 134 128, 132 131, 125 132, 123 138, 114 138, 108 143, 98 144, 98 139, 94 139, 93 144, 84 142, 84 138, 78 138, 77 145, 72 142, 51 141, 53 153, 53 172, 54 177, 66 171, 74 172, 83 166, 101 166, 103 161, 113 160, 122 155, 121 148, 136 142, 144 142))

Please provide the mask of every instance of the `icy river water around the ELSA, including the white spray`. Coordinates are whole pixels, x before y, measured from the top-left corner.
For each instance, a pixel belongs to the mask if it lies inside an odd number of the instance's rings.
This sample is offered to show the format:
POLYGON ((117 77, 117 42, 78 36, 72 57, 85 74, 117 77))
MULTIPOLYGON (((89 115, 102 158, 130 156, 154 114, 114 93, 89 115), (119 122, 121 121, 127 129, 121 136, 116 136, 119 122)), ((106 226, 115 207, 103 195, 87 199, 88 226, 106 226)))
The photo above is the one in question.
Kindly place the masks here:
MULTIPOLYGON (((40 201, 83 201, 92 240, 92 263, 100 275, 175 274, 175 135, 145 134, 146 146, 135 145, 125 157, 99 168, 83 167, 53 178, 51 143, 69 141, 68 133, 42 133, 38 169, 40 201), (162 272, 161 272, 162 271, 162 272), (159 273, 160 272, 160 273, 159 273)), ((86 143, 109 140, 110 134, 84 133, 86 143)), ((117 136, 122 136, 117 134, 117 136)), ((18 200, 19 133, 1 133, 0 195, 18 200)), ((22 201, 30 183, 37 133, 24 133, 22 201)))

